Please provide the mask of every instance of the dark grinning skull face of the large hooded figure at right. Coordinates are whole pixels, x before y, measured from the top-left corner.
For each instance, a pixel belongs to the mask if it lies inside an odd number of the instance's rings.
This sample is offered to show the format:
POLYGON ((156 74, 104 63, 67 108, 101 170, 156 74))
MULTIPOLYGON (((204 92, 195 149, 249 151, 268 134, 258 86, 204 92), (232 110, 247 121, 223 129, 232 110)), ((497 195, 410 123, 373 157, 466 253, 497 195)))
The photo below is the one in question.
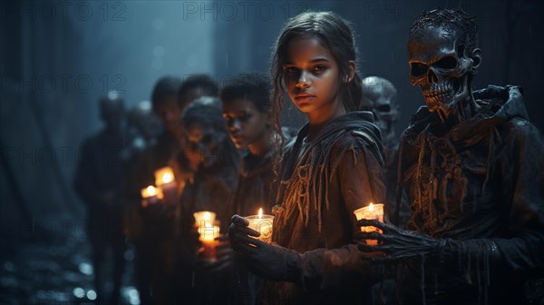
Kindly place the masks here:
POLYGON ((461 34, 444 26, 426 26, 409 37, 410 83, 421 88, 429 112, 440 110, 447 116, 471 96, 471 75, 481 53, 458 44, 461 34))

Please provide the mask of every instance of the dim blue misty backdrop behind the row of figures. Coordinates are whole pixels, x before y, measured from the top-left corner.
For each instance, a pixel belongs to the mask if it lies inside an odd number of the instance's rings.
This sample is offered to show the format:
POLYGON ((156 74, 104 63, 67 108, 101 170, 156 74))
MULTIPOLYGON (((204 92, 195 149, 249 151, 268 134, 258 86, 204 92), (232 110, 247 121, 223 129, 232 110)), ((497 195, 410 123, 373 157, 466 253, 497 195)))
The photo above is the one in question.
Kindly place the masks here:
MULTIPOLYGON (((353 23, 359 72, 398 89, 400 133, 423 103, 408 83, 408 29, 423 10, 438 7, 476 17, 483 62, 475 87, 522 85, 542 131, 542 1, 3 2, 0 251, 13 255, 20 242, 51 235, 84 241, 72 180, 79 145, 101 126, 100 95, 116 90, 131 107, 149 100, 165 74, 207 73, 224 84, 238 73, 267 73, 282 23, 305 9, 335 11, 353 23)), ((290 114, 296 125, 299 115, 290 114)))

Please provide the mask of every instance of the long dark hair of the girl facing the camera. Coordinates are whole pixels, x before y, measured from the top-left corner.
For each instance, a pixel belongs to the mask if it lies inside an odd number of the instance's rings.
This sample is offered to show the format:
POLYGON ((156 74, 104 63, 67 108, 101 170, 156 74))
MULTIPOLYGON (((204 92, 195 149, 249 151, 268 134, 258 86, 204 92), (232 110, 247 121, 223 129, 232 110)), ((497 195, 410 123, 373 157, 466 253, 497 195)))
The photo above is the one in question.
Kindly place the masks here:
POLYGON ((272 117, 279 134, 281 129, 280 113, 284 103, 283 64, 287 57, 287 44, 297 37, 317 37, 323 46, 332 54, 340 70, 340 98, 346 111, 353 111, 362 96, 361 77, 355 71, 355 77, 345 83, 343 80, 350 74, 349 61, 357 59, 355 38, 348 21, 332 12, 306 12, 287 20, 277 37, 274 55, 272 56, 272 117))

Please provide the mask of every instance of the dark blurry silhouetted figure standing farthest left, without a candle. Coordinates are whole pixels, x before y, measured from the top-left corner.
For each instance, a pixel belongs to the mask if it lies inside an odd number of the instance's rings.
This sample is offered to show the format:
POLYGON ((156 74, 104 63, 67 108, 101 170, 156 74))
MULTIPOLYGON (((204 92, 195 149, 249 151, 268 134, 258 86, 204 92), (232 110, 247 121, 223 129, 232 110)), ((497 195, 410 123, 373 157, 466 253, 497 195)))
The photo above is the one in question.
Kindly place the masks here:
POLYGON ((126 248, 122 234, 125 163, 121 152, 124 149, 124 107, 117 94, 110 93, 102 97, 100 115, 105 126, 100 133, 83 143, 83 158, 75 173, 75 190, 87 207, 87 230, 92 244, 97 300, 117 303, 126 248), (112 251, 112 271, 105 269, 108 265, 108 251, 112 251), (109 298, 106 297, 105 284, 110 280, 106 279, 111 279, 113 284, 109 298))

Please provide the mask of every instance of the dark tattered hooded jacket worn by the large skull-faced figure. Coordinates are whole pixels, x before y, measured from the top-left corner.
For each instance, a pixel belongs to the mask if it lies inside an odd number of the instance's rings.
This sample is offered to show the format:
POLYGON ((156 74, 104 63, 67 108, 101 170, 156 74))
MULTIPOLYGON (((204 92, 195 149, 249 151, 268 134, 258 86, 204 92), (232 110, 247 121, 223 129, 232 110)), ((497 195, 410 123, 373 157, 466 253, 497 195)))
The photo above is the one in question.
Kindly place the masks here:
POLYGON ((407 262, 403 300, 422 303, 424 290, 428 304, 521 303, 524 277, 543 270, 542 135, 529 123, 518 87, 473 95, 473 115, 447 133, 433 133, 438 118, 426 107, 403 133, 401 184, 413 213, 407 228, 442 240, 491 240, 501 259, 491 261, 482 248, 461 249, 455 262, 407 262))

